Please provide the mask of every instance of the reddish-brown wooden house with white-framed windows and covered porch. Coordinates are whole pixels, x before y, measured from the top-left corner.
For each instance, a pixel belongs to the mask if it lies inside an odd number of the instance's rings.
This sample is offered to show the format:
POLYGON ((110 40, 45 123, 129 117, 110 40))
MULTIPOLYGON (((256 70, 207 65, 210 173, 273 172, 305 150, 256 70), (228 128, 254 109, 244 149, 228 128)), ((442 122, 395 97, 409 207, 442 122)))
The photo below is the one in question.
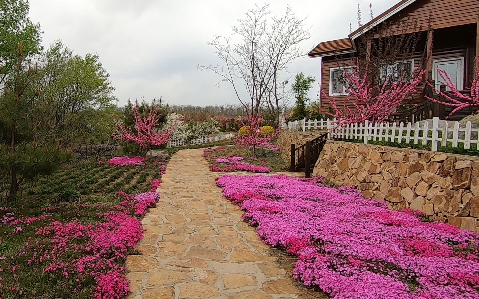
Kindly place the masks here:
MULTIPOLYGON (((351 105, 354 99, 342 93, 344 87, 337 78, 356 59, 361 65, 380 55, 375 45, 377 48, 381 39, 400 39, 414 34, 416 44, 411 53, 398 61, 388 62, 388 65, 378 66, 380 76, 398 69, 410 69, 411 72, 414 67, 427 69, 424 80, 429 80, 439 90, 439 68, 448 73, 457 89, 468 92, 466 89, 474 76, 475 57, 479 56, 479 0, 401 0, 347 38, 322 42, 308 55, 322 58, 321 88, 330 98, 335 98, 338 107, 342 107, 351 105)), ((411 100, 419 104, 419 109, 429 107, 427 117, 443 118, 450 111, 448 107, 433 108, 424 95, 435 96, 435 92, 422 84, 411 95, 411 100)), ((328 106, 326 100, 321 100, 321 108, 327 109, 328 106)), ((471 112, 462 111, 455 118, 471 112)))

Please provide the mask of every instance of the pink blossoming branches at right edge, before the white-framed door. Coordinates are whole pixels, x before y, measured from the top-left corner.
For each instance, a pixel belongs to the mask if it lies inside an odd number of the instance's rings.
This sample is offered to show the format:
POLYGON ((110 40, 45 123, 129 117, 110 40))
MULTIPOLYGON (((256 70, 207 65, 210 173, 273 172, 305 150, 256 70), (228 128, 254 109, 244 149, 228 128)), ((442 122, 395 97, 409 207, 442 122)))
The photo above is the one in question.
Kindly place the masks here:
POLYGON ((433 89, 436 89, 436 92, 441 95, 441 98, 445 99, 443 100, 436 100, 430 97, 425 97, 426 99, 433 101, 435 103, 439 103, 442 105, 450 106, 450 107, 455 107, 449 115, 447 115, 446 118, 451 117, 454 113, 457 111, 460 111, 466 107, 479 107, 479 58, 476 57, 476 68, 475 68, 475 76, 474 79, 472 80, 471 84, 471 94, 465 94, 462 93, 460 90, 456 88, 456 85, 453 83, 451 77, 443 71, 442 69, 437 69, 437 72, 439 73, 439 76, 441 76, 442 81, 447 89, 450 89, 451 91, 443 92, 440 90, 437 90, 435 86, 433 86, 431 83, 427 82, 429 86, 431 86, 433 89))

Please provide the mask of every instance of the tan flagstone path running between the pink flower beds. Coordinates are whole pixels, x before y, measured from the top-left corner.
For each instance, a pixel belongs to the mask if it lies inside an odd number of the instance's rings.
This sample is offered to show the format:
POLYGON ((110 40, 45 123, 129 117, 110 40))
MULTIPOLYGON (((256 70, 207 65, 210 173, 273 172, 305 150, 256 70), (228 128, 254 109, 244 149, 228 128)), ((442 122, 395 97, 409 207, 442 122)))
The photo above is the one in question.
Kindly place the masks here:
POLYGON ((221 174, 208 171, 202 153, 182 150, 168 164, 160 202, 143 219, 143 255, 126 260, 130 298, 297 298, 295 281, 222 197, 221 174))

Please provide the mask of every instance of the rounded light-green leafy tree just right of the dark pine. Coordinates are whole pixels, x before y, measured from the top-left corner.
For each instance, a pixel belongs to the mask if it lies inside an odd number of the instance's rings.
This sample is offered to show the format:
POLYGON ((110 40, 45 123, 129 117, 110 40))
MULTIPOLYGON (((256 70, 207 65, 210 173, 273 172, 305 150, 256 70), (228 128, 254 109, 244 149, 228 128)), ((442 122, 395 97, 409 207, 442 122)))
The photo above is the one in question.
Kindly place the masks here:
POLYGON ((54 137, 60 146, 81 148, 93 140, 101 141, 97 134, 111 136, 114 121, 111 117, 105 120, 105 116, 114 109, 115 89, 98 55, 74 55, 68 46, 56 41, 43 58, 40 97, 51 102, 45 121, 55 127, 54 137))

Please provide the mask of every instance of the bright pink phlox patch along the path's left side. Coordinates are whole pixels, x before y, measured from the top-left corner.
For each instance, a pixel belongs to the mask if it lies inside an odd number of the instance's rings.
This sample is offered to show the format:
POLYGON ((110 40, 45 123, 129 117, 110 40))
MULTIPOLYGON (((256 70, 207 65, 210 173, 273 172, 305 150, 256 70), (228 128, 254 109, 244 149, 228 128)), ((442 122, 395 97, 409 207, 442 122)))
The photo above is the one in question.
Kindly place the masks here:
POLYGON ((94 299, 126 298, 129 288, 122 260, 143 237, 144 230, 137 216, 154 207, 160 195, 156 192, 119 195, 125 196, 124 200, 99 214, 100 222, 54 221, 38 229, 35 235, 44 240, 27 241, 27 248, 34 253, 28 264, 43 264, 44 272, 58 273, 65 278, 79 277, 78 291, 83 281, 93 279, 94 299), (84 254, 63 262, 71 252, 84 254))

